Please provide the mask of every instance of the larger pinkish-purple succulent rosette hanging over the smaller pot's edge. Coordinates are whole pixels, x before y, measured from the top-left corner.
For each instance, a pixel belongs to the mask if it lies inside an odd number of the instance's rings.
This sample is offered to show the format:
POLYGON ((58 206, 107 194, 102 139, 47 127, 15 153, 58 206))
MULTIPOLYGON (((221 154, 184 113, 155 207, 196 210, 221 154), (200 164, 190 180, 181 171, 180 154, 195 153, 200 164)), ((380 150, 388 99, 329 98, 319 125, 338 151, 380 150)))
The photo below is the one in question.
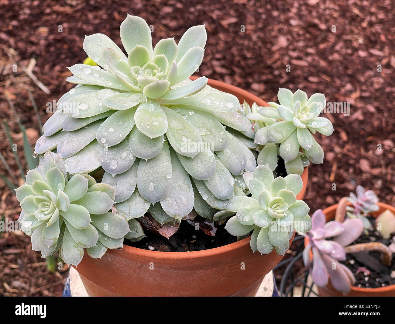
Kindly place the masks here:
POLYGON ((303 261, 306 267, 311 268, 314 283, 325 287, 331 279, 333 288, 348 293, 355 278, 350 269, 339 261, 346 260, 344 246, 351 244, 361 235, 361 220, 354 218, 343 223, 335 220, 326 223, 321 209, 314 212, 311 220, 312 229, 303 234, 308 238, 308 244, 303 251, 303 261), (331 241, 328 238, 332 238, 331 241))

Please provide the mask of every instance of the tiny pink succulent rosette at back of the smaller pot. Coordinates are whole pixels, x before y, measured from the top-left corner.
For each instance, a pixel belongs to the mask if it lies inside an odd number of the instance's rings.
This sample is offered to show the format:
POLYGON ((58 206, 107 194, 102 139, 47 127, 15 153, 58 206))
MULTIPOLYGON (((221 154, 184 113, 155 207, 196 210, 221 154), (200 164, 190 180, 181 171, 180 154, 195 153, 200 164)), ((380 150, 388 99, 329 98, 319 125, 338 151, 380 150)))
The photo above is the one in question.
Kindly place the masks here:
POLYGON ((365 229, 371 228, 371 223, 366 216, 379 209, 377 205, 378 197, 374 191, 365 191, 365 188, 362 186, 357 186, 356 195, 351 192, 350 197, 347 197, 347 201, 352 204, 352 206, 346 207, 347 216, 350 218, 359 218, 362 220, 365 229))

